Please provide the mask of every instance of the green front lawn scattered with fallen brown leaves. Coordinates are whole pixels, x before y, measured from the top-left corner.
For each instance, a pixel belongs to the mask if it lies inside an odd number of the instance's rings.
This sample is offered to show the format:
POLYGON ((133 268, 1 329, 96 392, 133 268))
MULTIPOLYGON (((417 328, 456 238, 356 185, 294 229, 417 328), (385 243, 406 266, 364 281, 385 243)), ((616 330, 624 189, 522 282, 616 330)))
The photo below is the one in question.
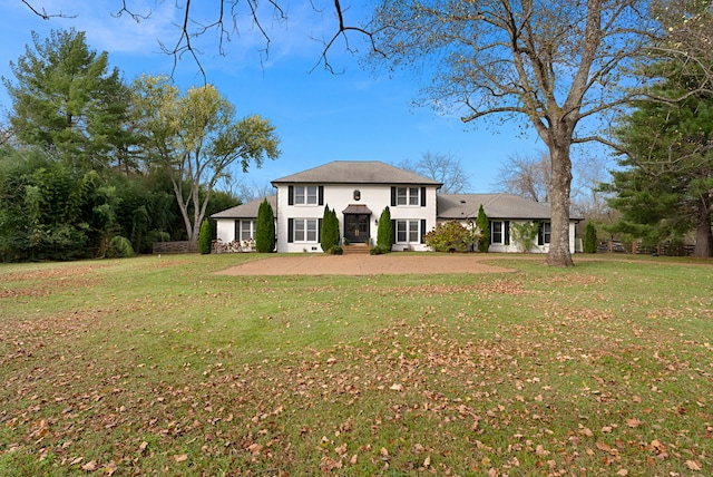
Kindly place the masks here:
POLYGON ((0 475, 713 474, 711 262, 257 257, 1 265, 0 475))

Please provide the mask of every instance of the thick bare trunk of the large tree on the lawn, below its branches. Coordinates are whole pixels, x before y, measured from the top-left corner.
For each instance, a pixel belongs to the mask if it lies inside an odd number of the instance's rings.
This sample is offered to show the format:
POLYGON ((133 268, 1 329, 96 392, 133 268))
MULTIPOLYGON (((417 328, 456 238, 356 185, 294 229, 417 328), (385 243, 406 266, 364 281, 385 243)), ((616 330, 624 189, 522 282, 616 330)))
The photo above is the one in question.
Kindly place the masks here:
POLYGON ((569 191, 572 160, 569 142, 554 140, 549 147, 553 164, 550 205, 551 236, 545 263, 551 266, 574 266, 569 253, 569 191))

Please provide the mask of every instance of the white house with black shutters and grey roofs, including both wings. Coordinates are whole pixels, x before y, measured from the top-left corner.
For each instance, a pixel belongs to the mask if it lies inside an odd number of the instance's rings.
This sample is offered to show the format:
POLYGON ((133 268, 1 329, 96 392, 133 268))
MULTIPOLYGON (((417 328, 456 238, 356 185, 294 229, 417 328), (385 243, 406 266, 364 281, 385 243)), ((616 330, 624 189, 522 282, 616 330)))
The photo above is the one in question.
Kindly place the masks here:
MULTIPOLYGON (((537 250, 549 249, 548 204, 511 194, 438 194, 442 184, 381 162, 336 160, 272 182, 267 196, 275 215, 277 252, 322 252, 321 221, 324 207, 334 210, 343 244, 374 245, 379 218, 388 206, 393 226, 393 250, 428 251, 423 235, 437 224, 458 221, 471 226, 482 204, 490 220, 492 252, 516 252, 510 226, 517 222, 539 225, 537 250)), ((213 214, 217 238, 251 241, 257 208, 264 198, 213 214)), ((574 253, 575 224, 569 243, 574 253)))

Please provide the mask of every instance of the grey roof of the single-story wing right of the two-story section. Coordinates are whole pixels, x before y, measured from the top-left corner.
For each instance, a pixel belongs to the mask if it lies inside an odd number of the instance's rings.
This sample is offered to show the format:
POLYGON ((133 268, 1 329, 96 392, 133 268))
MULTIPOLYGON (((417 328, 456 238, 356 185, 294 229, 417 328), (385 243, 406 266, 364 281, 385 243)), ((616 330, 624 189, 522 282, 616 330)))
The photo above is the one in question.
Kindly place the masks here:
POLYGON ((439 194, 438 218, 475 220, 480 204, 488 218, 549 220, 551 215, 548 203, 529 201, 514 194, 439 194))

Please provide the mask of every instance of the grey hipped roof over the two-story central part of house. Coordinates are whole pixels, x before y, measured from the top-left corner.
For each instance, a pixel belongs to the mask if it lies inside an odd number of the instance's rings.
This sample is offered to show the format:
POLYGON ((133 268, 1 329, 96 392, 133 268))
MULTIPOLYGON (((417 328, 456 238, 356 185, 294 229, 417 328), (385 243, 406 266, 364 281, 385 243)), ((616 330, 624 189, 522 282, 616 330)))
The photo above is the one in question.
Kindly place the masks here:
POLYGON ((273 185, 285 183, 443 185, 379 160, 334 160, 272 182, 273 185))

